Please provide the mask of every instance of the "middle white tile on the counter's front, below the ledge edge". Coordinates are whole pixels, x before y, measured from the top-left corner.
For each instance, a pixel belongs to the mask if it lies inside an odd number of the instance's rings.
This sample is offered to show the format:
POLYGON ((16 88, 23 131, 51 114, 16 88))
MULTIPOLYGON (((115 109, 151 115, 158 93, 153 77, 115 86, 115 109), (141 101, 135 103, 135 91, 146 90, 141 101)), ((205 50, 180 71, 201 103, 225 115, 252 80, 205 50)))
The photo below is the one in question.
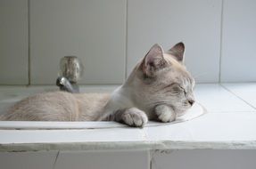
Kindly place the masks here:
POLYGON ((142 151, 61 151, 55 169, 148 169, 149 152, 142 151))

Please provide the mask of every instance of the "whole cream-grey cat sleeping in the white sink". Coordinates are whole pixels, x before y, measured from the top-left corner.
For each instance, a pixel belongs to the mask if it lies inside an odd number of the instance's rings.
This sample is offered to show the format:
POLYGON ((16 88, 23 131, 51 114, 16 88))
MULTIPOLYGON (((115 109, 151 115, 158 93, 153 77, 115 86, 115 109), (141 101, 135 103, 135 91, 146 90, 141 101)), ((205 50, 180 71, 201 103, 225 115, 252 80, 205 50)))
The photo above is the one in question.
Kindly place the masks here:
POLYGON ((194 104, 194 78, 184 66, 185 45, 164 53, 154 44, 128 79, 110 94, 39 93, 17 102, 1 120, 117 121, 143 127, 170 122, 194 104))

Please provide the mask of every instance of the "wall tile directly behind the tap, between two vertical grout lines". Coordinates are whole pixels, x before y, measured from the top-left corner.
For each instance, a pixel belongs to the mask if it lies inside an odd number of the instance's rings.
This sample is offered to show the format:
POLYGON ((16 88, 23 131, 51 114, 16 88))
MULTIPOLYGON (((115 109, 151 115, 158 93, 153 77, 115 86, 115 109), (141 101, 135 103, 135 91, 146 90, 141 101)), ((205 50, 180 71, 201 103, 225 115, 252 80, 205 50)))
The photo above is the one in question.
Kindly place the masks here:
POLYGON ((81 83, 120 84, 125 14, 125 0, 30 1, 31 84, 55 84, 65 55, 85 63, 81 83))

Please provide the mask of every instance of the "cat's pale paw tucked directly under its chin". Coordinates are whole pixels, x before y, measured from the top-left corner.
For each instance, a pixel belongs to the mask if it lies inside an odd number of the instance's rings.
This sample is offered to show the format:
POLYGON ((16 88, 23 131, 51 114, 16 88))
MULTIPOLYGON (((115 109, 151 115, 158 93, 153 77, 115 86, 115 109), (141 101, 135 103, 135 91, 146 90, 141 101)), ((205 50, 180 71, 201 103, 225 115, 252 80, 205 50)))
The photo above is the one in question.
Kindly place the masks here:
POLYGON ((166 105, 158 105, 154 109, 158 120, 167 123, 172 122, 176 119, 176 114, 173 109, 166 105))

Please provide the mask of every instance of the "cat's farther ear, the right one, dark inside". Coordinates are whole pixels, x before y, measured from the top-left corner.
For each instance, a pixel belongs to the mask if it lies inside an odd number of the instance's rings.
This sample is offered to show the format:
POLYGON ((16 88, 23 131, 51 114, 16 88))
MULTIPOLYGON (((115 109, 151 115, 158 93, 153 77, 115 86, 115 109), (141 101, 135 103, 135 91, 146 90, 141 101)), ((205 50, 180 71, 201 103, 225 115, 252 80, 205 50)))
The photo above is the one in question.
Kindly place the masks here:
POLYGON ((176 60, 183 63, 184 53, 185 53, 185 44, 183 44, 182 42, 175 44, 171 49, 169 49, 168 53, 174 56, 176 60))

